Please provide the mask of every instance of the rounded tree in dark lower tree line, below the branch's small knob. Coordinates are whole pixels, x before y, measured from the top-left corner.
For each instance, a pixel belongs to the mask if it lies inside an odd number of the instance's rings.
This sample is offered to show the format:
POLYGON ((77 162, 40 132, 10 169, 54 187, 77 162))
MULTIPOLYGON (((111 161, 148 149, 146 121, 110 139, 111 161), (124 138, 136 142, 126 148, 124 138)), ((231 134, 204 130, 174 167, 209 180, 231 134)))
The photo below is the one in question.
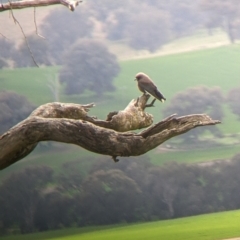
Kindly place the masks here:
POLYGON ((113 224, 134 221, 140 193, 138 185, 120 170, 100 170, 91 174, 82 186, 83 222, 113 224))

